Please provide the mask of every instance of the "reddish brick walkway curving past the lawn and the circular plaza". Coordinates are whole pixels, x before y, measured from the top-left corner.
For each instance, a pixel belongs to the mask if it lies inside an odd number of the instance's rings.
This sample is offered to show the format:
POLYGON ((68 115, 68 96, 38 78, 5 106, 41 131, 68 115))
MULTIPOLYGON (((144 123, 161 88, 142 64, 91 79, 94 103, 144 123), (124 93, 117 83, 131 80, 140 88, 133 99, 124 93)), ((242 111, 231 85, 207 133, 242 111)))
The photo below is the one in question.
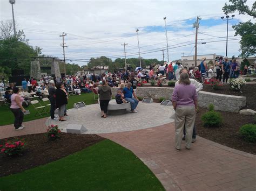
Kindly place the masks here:
MULTIPOLYGON (((0 138, 46 132, 46 118, 0 126, 0 138)), ((197 137, 191 150, 174 150, 173 123, 136 131, 99 134, 136 154, 166 190, 256 190, 256 155, 197 137)))

